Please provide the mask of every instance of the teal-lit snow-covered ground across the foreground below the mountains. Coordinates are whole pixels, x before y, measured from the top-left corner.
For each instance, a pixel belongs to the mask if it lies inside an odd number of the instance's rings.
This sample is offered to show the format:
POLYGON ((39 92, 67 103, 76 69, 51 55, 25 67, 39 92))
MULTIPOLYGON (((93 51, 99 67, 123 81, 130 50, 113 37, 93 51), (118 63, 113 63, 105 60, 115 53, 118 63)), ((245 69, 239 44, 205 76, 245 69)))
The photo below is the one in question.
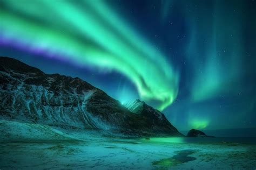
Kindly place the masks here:
POLYGON ((256 145, 0 122, 0 169, 255 169, 256 145))

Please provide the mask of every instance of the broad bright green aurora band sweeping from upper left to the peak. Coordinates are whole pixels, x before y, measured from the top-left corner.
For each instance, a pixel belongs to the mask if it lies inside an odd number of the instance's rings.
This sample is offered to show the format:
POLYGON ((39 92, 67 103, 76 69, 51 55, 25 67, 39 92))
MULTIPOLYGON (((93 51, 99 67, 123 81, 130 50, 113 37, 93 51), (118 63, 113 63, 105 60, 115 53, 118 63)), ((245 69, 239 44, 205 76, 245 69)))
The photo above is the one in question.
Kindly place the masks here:
POLYGON ((0 1, 1 38, 128 77, 144 101, 169 106, 179 74, 103 1, 0 1), (83 7, 83 8, 82 8, 83 7))

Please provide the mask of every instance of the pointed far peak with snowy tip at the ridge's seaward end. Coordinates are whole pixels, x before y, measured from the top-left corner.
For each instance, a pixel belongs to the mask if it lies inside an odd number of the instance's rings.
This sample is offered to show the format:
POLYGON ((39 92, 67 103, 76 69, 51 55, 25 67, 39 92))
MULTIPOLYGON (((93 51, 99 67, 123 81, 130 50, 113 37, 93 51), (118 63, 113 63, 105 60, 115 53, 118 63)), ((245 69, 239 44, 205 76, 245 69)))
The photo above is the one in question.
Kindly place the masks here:
POLYGON ((135 100, 131 103, 126 103, 125 107, 134 114, 143 117, 147 128, 152 128, 156 132, 169 132, 173 136, 183 136, 174 126, 166 119, 160 111, 150 107, 145 102, 135 100))

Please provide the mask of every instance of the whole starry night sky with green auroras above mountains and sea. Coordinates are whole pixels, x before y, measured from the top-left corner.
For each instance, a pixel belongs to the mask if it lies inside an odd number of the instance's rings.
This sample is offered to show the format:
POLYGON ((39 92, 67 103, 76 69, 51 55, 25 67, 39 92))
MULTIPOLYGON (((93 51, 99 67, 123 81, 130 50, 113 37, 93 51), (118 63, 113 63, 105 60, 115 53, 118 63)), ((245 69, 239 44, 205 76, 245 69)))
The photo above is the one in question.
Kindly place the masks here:
POLYGON ((179 130, 256 128, 256 1, 0 0, 0 55, 140 98, 179 130))

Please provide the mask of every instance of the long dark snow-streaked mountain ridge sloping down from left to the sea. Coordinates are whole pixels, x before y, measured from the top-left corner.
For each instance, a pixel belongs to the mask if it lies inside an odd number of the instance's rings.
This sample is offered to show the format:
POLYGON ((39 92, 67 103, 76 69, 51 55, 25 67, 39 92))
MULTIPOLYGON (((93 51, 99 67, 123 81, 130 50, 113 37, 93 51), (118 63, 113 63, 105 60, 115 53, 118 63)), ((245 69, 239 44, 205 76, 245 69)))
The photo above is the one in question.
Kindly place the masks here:
POLYGON ((0 119, 139 135, 180 134, 159 111, 133 114, 91 84, 0 57, 0 119), (147 115, 149 114, 149 115, 147 115))

